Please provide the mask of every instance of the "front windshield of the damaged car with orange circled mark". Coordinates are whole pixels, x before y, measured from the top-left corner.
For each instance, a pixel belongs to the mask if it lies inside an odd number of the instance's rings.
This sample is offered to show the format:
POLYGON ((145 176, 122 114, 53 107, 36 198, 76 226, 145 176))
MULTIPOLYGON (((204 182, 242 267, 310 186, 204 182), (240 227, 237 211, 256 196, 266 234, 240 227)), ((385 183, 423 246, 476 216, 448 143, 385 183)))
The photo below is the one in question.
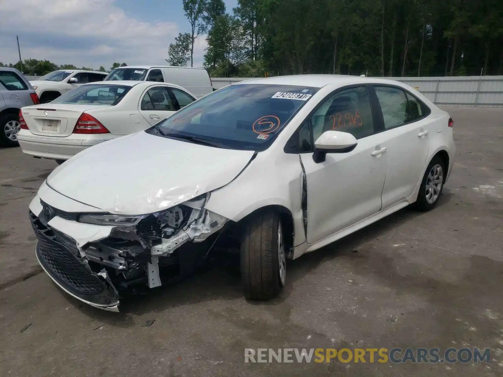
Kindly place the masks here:
POLYGON ((236 84, 211 93, 147 132, 210 140, 232 149, 265 150, 318 88, 236 84))

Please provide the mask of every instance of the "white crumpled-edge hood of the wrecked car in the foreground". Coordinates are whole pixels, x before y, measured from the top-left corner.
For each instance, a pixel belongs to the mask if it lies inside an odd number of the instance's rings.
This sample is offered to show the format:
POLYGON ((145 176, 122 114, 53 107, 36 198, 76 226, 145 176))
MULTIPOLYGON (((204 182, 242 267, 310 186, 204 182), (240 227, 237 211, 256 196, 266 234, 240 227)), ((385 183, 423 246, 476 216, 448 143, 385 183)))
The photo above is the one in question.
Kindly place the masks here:
POLYGON ((131 134, 88 148, 47 178, 53 190, 115 213, 156 212, 229 183, 253 151, 131 134))

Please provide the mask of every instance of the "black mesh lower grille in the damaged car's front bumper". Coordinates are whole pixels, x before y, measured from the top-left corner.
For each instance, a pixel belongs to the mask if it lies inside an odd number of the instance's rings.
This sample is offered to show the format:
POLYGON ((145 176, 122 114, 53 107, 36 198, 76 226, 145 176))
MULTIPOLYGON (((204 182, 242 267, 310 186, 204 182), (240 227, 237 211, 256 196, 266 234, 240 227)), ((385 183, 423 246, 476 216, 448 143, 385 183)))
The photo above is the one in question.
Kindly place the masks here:
POLYGON ((99 295, 104 291, 100 279, 93 275, 68 248, 58 242, 55 234, 30 214, 38 238, 40 263, 59 284, 77 295, 99 295))

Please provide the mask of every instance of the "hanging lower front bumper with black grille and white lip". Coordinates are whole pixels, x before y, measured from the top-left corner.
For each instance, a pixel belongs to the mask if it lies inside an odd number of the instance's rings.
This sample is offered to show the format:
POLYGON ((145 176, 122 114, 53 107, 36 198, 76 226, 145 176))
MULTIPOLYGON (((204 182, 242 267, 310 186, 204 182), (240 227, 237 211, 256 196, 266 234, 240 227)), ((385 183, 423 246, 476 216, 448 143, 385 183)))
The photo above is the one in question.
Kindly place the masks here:
POLYGON ((107 272, 94 273, 74 242, 44 226, 32 212, 30 220, 38 239, 38 262, 56 285, 95 308, 118 312, 119 295, 107 272))

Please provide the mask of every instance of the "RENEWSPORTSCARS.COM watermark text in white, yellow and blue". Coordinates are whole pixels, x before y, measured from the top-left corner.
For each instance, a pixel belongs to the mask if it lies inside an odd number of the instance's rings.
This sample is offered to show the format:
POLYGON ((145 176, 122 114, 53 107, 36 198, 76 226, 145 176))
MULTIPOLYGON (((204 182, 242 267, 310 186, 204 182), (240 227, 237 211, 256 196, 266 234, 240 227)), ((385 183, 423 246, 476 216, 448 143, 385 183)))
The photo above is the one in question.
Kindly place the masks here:
POLYGON ((490 348, 245 348, 244 362, 476 363, 490 361, 490 348))

